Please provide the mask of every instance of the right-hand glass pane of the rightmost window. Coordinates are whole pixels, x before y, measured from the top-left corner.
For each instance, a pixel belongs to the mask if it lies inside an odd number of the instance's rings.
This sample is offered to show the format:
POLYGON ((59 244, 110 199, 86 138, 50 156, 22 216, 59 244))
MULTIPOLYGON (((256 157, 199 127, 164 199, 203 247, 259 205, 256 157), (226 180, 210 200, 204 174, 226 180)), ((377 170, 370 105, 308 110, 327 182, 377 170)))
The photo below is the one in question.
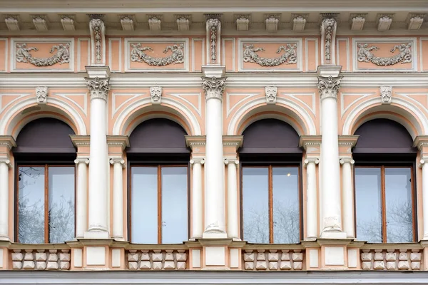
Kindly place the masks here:
POLYGON ((412 171, 385 168, 387 242, 413 242, 412 171))

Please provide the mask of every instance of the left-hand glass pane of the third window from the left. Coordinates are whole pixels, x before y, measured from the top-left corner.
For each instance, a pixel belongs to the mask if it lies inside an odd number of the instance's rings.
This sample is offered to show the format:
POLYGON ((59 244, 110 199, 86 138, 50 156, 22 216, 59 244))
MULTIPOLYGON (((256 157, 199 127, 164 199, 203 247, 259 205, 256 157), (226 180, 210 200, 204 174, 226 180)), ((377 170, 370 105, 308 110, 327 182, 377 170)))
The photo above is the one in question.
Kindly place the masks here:
POLYGON ((243 167, 244 239, 269 243, 269 180, 267 167, 243 167))

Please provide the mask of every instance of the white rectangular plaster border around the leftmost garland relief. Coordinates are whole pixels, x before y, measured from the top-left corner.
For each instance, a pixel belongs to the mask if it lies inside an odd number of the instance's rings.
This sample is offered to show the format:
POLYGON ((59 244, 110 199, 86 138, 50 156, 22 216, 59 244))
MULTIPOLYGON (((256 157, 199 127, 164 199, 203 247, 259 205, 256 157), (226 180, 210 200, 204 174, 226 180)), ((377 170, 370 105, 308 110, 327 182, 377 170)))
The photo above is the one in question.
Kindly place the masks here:
MULTIPOLYGON (((33 53, 37 57, 37 53, 33 53)), ((74 38, 11 38, 11 72, 74 72, 74 38), (16 43, 69 43, 70 44, 70 63, 68 68, 40 68, 37 66, 31 68, 16 68, 16 43)))

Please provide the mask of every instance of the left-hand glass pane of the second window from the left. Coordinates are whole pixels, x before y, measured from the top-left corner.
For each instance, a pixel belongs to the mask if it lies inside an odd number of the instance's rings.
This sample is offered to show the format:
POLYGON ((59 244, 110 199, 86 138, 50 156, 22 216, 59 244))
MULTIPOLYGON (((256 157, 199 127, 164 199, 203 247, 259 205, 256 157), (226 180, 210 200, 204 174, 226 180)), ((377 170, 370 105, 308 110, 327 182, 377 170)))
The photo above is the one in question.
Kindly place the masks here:
POLYGON ((157 167, 131 167, 131 233, 134 244, 158 243, 157 167))

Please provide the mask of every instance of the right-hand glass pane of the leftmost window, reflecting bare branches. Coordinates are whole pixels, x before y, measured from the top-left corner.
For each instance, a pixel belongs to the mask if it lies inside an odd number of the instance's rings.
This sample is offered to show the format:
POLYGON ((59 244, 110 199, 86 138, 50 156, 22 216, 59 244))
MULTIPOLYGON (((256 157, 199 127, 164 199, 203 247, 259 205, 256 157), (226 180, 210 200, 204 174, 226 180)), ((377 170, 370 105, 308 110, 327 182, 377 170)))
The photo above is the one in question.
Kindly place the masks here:
POLYGON ((49 242, 74 239, 74 167, 49 167, 49 242))

